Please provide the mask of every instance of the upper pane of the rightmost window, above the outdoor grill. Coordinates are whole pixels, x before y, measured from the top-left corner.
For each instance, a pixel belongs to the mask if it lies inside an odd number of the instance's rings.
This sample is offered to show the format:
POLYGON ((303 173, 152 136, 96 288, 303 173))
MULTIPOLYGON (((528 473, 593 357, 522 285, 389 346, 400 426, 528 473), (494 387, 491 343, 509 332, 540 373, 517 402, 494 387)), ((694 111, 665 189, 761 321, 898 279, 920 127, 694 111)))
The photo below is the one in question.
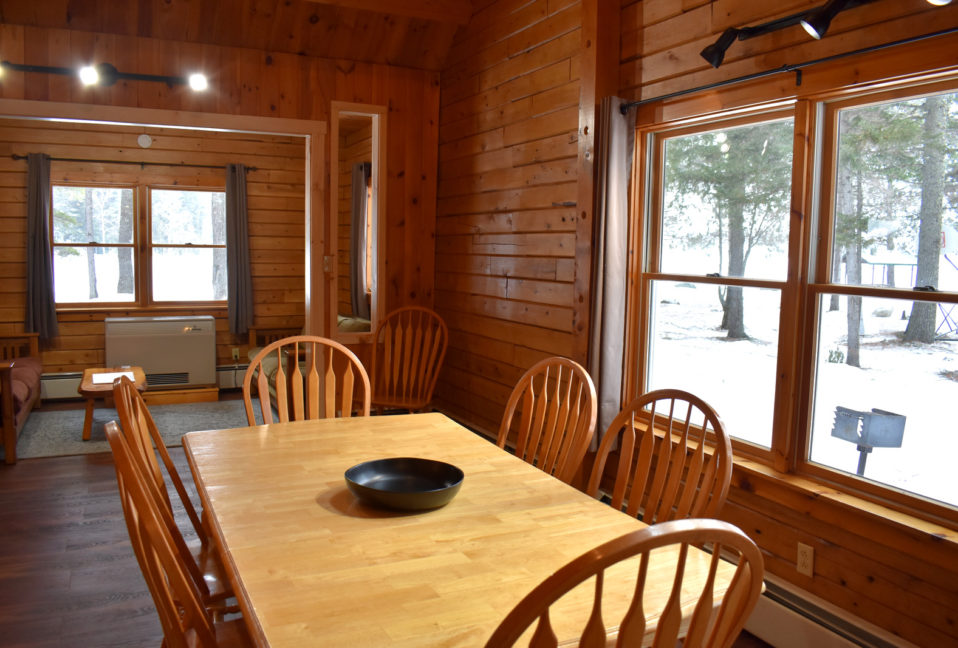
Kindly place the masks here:
POLYGON ((958 94, 838 114, 833 283, 958 291, 958 94))

